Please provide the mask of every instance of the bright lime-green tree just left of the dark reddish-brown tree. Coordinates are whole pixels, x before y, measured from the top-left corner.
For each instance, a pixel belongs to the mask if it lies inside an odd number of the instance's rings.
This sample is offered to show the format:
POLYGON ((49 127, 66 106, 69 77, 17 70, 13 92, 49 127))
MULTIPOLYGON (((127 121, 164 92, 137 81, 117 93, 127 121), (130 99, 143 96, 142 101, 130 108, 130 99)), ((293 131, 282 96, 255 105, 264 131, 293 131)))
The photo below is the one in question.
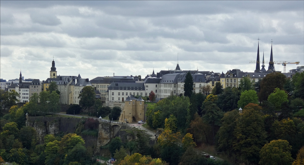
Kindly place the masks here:
POLYGON ((245 90, 242 92, 237 105, 238 107, 244 108, 249 103, 258 104, 257 92, 254 90, 245 90))

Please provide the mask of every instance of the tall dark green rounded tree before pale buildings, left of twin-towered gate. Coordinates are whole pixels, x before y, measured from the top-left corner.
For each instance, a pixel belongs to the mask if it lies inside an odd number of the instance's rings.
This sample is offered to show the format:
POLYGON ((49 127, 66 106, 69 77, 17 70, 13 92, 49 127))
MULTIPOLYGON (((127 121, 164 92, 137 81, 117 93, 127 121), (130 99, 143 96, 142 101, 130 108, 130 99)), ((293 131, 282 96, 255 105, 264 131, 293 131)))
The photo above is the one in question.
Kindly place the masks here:
POLYGON ((95 103, 94 88, 92 86, 85 86, 81 91, 78 96, 78 98, 80 98, 79 105, 84 109, 93 106, 95 103))

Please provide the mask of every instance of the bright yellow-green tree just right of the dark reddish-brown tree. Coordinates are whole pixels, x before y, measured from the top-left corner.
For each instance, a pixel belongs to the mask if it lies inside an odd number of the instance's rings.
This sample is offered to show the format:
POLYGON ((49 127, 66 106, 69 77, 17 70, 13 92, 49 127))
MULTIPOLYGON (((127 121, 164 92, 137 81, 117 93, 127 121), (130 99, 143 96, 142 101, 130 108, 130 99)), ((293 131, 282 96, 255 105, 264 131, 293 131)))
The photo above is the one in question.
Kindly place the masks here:
POLYGON ((268 96, 267 101, 271 102, 277 109, 281 107, 281 104, 285 101, 288 102, 288 95, 284 90, 275 88, 275 91, 268 96))

